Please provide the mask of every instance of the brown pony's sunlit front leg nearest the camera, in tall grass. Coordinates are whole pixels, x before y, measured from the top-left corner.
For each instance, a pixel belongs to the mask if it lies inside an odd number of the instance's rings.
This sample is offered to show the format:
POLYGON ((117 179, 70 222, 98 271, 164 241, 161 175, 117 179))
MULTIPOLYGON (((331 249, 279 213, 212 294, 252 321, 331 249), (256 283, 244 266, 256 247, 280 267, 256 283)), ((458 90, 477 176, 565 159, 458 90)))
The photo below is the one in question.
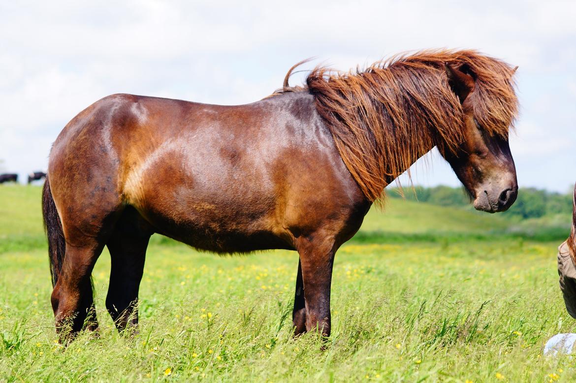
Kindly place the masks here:
POLYGON ((330 335, 330 286, 335 246, 331 237, 314 236, 312 240, 301 238, 298 253, 304 286, 306 331, 317 329, 322 335, 330 335))

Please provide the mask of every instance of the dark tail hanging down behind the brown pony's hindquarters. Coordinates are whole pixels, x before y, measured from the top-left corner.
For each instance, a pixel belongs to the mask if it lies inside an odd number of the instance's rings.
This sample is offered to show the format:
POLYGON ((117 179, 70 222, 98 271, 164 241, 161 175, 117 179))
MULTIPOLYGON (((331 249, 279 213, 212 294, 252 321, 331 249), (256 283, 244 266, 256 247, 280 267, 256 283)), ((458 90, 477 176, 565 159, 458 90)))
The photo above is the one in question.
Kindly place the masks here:
POLYGON ((66 241, 62 230, 62 222, 52 198, 48 176, 44 181, 42 190, 42 215, 44 217, 44 231, 48 238, 48 256, 50 257, 50 274, 52 275, 52 287, 58 282, 58 275, 62 270, 66 241))

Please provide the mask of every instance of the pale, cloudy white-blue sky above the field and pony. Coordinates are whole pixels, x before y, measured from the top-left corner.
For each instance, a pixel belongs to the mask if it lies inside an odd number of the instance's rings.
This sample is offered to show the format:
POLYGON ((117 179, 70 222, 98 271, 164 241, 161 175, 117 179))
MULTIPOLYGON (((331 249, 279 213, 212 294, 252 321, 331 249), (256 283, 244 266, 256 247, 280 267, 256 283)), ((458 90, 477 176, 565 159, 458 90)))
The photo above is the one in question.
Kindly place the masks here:
MULTIPOLYGON (((474 48, 519 66, 518 184, 566 192, 576 181, 575 20, 573 0, 1 2, 0 171, 46 169, 60 130, 108 94, 245 104, 309 57, 302 69, 348 70, 474 48)), ((460 185, 437 153, 425 157, 414 184, 460 185)))

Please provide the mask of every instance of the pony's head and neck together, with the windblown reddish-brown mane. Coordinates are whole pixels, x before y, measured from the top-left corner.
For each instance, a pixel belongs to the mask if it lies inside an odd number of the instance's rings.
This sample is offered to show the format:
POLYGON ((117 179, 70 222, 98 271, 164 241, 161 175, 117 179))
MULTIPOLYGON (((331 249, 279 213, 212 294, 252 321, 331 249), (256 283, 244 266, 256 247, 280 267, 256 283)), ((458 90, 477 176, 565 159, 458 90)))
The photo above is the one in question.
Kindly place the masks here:
MULTIPOLYGON (((298 66, 300 64, 297 64, 298 66)), ((518 190, 508 131, 518 109, 507 63, 473 50, 393 56, 355 73, 317 67, 306 86, 336 149, 371 202, 437 146, 478 210, 504 211, 518 190)))

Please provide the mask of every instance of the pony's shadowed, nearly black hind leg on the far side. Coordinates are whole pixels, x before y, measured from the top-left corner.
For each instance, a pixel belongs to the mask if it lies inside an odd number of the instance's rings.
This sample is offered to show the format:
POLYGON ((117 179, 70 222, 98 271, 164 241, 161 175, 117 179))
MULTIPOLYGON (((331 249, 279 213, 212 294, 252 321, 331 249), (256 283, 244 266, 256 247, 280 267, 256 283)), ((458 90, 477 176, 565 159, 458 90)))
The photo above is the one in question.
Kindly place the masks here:
POLYGON ((152 233, 138 212, 127 207, 107 242, 112 267, 106 308, 119 332, 135 330, 138 324, 138 290, 152 233))

